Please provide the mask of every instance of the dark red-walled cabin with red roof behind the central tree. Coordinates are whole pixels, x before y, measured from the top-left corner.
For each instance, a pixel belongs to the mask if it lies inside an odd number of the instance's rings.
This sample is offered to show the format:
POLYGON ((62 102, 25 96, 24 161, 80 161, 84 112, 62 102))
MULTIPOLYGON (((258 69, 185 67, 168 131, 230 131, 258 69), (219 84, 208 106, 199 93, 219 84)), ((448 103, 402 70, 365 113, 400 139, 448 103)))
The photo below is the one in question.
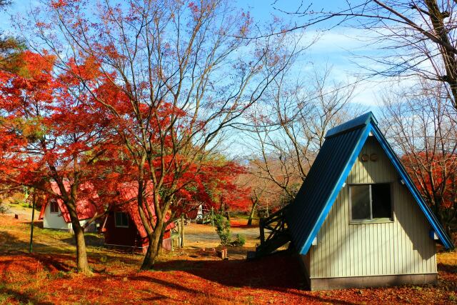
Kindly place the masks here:
MULTIPOLYGON (((148 248, 148 238, 146 230, 141 222, 138 206, 136 204, 136 187, 124 187, 121 189, 121 199, 126 204, 122 204, 112 209, 106 216, 101 231, 105 236, 105 246, 126 251, 146 253, 148 248)), ((147 201, 154 213, 154 204, 147 201)), ((174 223, 166 227, 162 246, 171 251, 171 229, 174 223)))

